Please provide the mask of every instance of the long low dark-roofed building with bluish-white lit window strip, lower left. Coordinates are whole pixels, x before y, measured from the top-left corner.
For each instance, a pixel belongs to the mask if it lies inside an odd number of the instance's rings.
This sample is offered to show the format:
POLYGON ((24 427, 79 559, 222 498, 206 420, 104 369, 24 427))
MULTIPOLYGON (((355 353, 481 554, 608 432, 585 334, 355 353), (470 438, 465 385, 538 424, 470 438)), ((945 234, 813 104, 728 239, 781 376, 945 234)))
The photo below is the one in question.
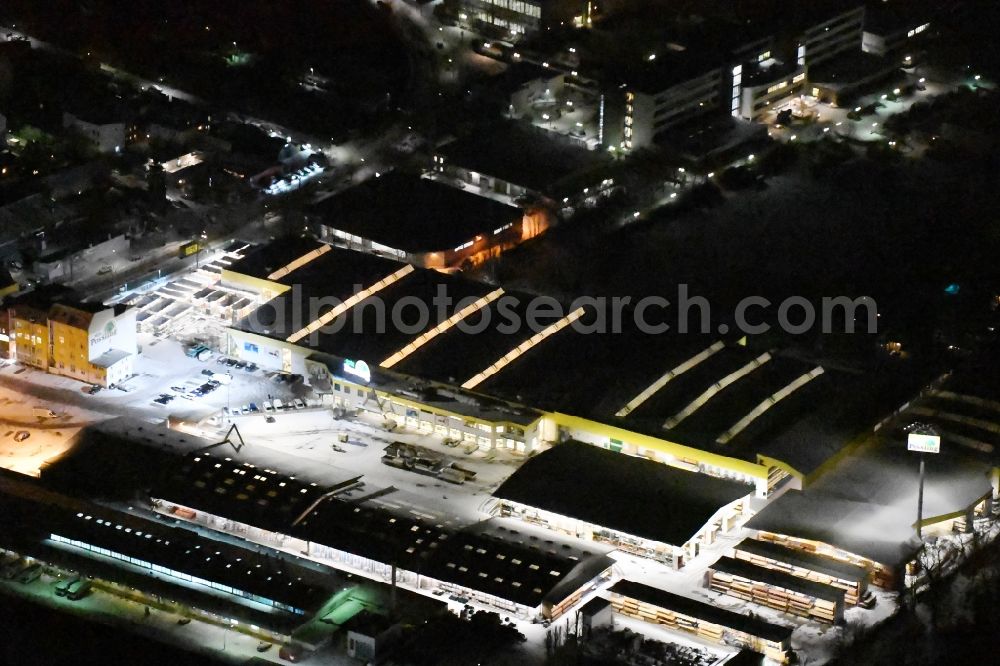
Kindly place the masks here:
POLYGON ((291 557, 55 494, 33 482, 4 479, 2 487, 5 547, 91 576, 112 594, 139 589, 180 612, 253 624, 279 640, 333 594, 328 576, 291 557))

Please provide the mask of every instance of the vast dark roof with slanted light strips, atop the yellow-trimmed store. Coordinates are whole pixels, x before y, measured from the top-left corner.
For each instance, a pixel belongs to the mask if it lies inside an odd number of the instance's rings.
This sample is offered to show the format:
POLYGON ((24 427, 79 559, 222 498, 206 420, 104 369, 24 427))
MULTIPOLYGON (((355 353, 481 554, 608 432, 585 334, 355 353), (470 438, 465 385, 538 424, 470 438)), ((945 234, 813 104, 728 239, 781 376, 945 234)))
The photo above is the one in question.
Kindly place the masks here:
MULTIPOLYGON (((267 270, 280 270, 280 263, 267 262, 267 270)), ((560 306, 549 314, 537 301, 533 308, 529 294, 349 250, 326 251, 291 275, 308 271, 317 278, 302 282, 299 294, 281 294, 235 329, 736 459, 765 456, 802 475, 928 381, 905 367, 845 371, 794 351, 753 347, 753 340, 744 346, 673 328, 641 330, 631 306, 616 319, 610 306, 548 299, 560 306), (368 261, 379 263, 371 270, 365 264, 356 278, 352 262, 368 261), (452 297, 443 309, 434 302, 439 289, 452 297), (294 319, 293 301, 327 295, 343 304, 294 319), (375 297, 385 326, 378 325, 375 297), (415 309, 402 305, 414 301, 430 320, 410 330, 394 326, 397 307, 407 325, 414 323, 415 309), (536 326, 527 326, 529 313, 539 311, 536 326)), ((644 318, 660 323, 656 316, 652 309, 644 318)))

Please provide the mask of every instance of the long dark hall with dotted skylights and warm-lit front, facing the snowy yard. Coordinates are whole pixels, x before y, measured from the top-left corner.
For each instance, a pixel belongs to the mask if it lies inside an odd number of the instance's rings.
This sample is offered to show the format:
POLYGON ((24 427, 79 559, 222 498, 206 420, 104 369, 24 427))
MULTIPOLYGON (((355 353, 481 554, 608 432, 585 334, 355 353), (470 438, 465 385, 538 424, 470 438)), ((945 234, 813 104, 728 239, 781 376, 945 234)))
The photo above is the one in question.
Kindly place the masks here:
POLYGON ((399 583, 441 587, 522 617, 560 615, 611 566, 604 555, 528 548, 477 526, 433 525, 336 496, 356 481, 324 488, 202 452, 151 493, 164 514, 378 580, 395 567, 399 583))

